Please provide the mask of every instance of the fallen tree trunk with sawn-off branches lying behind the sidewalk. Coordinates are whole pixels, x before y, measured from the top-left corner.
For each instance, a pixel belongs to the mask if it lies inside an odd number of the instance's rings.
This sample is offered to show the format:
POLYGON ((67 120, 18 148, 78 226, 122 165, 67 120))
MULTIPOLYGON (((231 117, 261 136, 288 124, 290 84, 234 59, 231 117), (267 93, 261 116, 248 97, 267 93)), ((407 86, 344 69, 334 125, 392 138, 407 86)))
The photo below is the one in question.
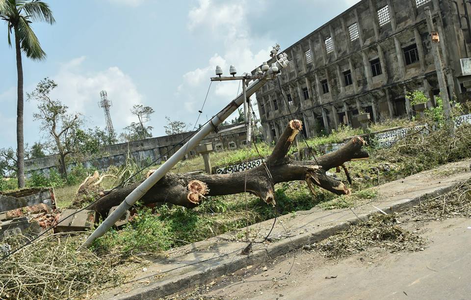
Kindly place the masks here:
MULTIPOLYGON (((302 130, 302 122, 292 120, 278 139, 272 154, 256 168, 231 174, 174 174, 168 173, 159 180, 142 198, 144 204, 171 203, 193 208, 206 196, 218 196, 250 192, 268 204, 275 205, 274 185, 281 182, 305 180, 313 191, 319 186, 335 194, 349 194, 342 182, 326 175, 326 171, 345 162, 367 159, 363 149, 365 141, 353 137, 342 148, 318 157, 315 161, 291 161, 286 157, 296 135, 302 130)), ((100 198, 89 209, 106 214, 112 206, 118 205, 140 183, 117 189, 100 198)), ((314 192, 314 191, 313 191, 314 192)))

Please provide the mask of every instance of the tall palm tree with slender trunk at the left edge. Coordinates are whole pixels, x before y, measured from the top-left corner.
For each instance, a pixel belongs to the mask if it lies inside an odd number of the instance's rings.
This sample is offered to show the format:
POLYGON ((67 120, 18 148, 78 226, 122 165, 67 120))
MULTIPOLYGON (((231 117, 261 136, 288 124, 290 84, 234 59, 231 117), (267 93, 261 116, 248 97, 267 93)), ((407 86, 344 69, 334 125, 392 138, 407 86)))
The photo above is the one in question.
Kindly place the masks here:
POLYGON ((31 28, 34 21, 55 22, 49 5, 39 0, 0 0, 0 19, 8 26, 8 45, 15 34, 16 67, 18 71, 18 106, 16 119, 18 187, 25 187, 25 149, 23 145, 23 66, 21 52, 33 60, 46 58, 39 40, 31 28))

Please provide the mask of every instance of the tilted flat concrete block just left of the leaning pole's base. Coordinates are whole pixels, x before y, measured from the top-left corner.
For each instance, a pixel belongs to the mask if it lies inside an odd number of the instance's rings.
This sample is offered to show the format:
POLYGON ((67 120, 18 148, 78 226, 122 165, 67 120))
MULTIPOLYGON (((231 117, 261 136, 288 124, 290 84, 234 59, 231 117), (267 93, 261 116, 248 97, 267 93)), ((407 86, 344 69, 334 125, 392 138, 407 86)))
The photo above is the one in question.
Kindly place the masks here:
POLYGON ((91 230, 94 225, 95 211, 65 209, 60 214, 59 223, 54 228, 54 232, 91 230))

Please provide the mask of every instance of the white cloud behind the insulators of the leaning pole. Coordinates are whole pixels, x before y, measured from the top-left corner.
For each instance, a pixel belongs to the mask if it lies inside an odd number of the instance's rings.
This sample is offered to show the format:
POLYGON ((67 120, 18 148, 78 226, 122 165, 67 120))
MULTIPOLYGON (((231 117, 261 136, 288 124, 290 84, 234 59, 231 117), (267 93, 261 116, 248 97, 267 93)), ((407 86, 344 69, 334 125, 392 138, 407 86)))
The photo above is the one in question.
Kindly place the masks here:
MULTIPOLYGON (((178 94, 183 92, 188 95, 202 94, 201 89, 206 88, 209 77, 214 76, 216 65, 221 66, 224 73, 228 75, 229 66, 233 64, 238 74, 242 74, 251 72, 262 61, 269 58, 269 51, 275 42, 260 37, 255 38, 250 34, 248 9, 264 7, 264 5, 249 5, 254 2, 199 0, 198 5, 189 11, 188 29, 213 39, 214 44, 220 47, 217 49, 217 54, 208 58, 206 66, 200 66, 183 75, 183 83, 178 87, 178 94), (257 49, 257 47, 260 48, 257 49), (197 88, 200 88, 199 93, 195 93, 197 88)), ((259 0, 256 4, 264 2, 264 0, 259 0)), ((225 104, 236 96, 238 87, 239 82, 212 83, 211 95, 213 97, 210 97, 209 102, 212 101, 213 104, 218 104, 218 108, 222 108, 221 103, 225 104)), ((195 103, 188 101, 184 107, 188 111, 193 111, 195 103)))

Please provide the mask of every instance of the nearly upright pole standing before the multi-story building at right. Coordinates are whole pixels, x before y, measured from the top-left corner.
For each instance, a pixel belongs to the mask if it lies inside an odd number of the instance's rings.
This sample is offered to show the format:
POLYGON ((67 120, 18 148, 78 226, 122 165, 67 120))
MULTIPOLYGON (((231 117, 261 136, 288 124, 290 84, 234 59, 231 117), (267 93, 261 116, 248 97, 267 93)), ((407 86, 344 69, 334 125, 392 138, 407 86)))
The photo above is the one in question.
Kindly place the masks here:
POLYGON ((432 42, 432 55, 435 62, 435 69, 437 70, 438 85, 440 87, 440 96, 443 100, 443 110, 445 112, 445 117, 448 119, 450 117, 450 98, 448 97, 448 91, 446 90, 446 81, 445 74, 443 73, 442 57, 440 55, 440 36, 438 32, 435 31, 433 25, 432 13, 430 12, 430 6, 424 8, 425 18, 427 20, 428 32, 430 33, 430 38, 432 42))

